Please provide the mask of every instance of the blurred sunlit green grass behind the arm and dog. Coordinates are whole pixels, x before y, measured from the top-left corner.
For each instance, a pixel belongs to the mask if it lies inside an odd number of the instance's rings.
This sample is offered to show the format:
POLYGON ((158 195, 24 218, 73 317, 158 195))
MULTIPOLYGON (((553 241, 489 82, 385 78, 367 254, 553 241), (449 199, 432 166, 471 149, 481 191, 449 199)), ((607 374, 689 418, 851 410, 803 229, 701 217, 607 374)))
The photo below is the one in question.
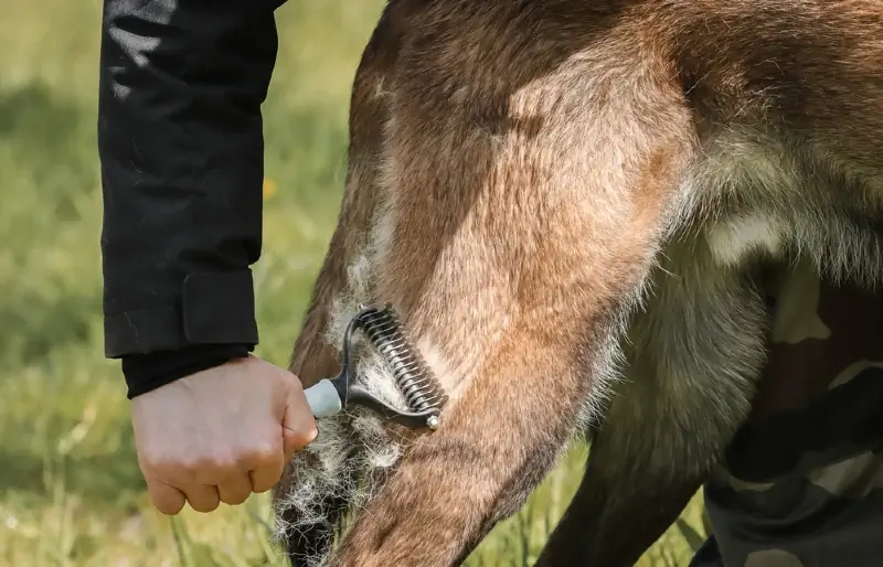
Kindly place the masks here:
MULTIPOLYGON (((333 226, 350 81, 379 0, 289 0, 265 106, 258 354, 284 365, 333 226)), ((0 8, 0 564, 284 565, 266 496, 174 520, 149 505, 117 364, 102 355, 96 157, 98 0, 0 8)), ((584 448, 470 565, 529 565, 578 481, 584 448)), ((702 533, 700 509, 685 514, 702 533)), ((641 565, 685 565, 672 528, 641 565)))

